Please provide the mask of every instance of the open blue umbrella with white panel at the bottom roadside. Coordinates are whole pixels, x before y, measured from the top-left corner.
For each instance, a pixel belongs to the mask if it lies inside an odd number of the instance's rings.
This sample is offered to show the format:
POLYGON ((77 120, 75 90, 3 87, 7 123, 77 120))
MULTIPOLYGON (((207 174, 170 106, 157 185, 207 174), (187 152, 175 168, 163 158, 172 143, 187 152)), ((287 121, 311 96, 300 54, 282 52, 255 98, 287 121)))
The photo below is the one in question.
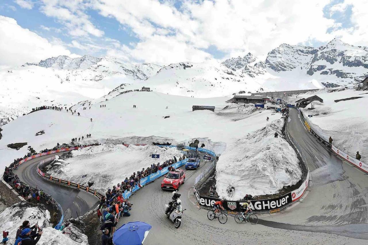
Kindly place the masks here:
POLYGON ((113 235, 115 245, 141 245, 152 226, 142 221, 123 224, 113 235))

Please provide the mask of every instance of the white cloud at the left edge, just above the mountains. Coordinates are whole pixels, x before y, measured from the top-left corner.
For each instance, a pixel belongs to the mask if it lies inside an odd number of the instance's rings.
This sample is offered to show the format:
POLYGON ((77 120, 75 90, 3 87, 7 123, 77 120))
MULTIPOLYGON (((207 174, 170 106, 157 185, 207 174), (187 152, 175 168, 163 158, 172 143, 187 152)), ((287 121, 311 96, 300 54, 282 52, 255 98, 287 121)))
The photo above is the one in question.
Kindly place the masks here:
POLYGON ((0 65, 22 65, 58 55, 71 55, 64 46, 52 44, 22 28, 13 18, 0 15, 0 65))

